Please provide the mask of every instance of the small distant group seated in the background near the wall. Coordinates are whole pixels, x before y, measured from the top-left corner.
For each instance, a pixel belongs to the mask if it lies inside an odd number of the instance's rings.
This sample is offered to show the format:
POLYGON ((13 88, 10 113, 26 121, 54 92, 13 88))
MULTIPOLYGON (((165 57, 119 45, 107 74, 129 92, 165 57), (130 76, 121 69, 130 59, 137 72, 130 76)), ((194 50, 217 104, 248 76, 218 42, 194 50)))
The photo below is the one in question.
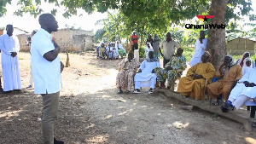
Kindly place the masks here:
POLYGON ((105 47, 105 43, 102 43, 96 49, 97 58, 116 60, 119 59, 119 56, 123 58, 126 55, 126 50, 119 41, 116 43, 108 43, 108 46, 105 47))

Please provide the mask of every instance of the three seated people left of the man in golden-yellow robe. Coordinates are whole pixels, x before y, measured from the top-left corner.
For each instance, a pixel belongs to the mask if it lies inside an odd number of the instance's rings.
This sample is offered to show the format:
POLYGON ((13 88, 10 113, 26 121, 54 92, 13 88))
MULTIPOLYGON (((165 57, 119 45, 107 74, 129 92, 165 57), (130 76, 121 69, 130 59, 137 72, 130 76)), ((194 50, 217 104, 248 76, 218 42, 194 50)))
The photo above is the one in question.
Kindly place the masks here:
POLYGON ((180 77, 186 68, 186 59, 182 55, 183 49, 177 49, 177 54, 173 55, 166 67, 160 68, 160 60, 154 57, 153 49, 148 51, 148 56, 139 64, 130 51, 128 57, 119 63, 119 73, 116 78, 116 85, 119 89, 119 94, 123 93, 122 89, 126 89, 126 93, 131 93, 131 88, 134 88, 133 93, 141 93, 141 87, 149 87, 149 94, 154 93, 154 88, 157 82, 160 82, 163 87, 167 81, 172 84, 172 79, 180 77), (138 70, 137 70, 138 69, 138 70), (157 80, 158 79, 158 80, 157 80))

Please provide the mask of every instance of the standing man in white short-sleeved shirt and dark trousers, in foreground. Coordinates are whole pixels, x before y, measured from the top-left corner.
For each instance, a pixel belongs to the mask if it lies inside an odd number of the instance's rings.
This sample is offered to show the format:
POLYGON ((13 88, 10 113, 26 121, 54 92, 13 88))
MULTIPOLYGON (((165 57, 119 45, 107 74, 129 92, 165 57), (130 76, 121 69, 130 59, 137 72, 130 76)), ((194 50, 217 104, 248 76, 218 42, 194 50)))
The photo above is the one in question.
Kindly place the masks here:
POLYGON ((58 23, 52 14, 41 14, 39 24, 41 29, 32 37, 31 60, 35 94, 43 97, 43 140, 44 144, 63 144, 54 138, 64 65, 58 56, 61 48, 50 33, 58 31, 58 23))

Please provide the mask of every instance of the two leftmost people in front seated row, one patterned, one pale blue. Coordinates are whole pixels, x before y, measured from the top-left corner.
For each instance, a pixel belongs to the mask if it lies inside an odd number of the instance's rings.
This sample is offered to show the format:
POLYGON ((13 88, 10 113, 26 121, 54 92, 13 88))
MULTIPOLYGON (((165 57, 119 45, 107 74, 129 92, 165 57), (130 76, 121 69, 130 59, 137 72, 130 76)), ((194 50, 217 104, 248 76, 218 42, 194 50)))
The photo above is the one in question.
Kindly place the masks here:
POLYGON ((154 58, 153 51, 148 52, 148 59, 143 60, 142 64, 134 58, 132 51, 130 51, 128 57, 119 63, 119 73, 116 77, 118 93, 122 94, 122 89, 126 89, 125 93, 129 94, 133 87, 133 93, 138 94, 141 93, 141 87, 149 87, 148 93, 153 94, 156 84, 155 67, 160 67, 160 61, 154 58))

